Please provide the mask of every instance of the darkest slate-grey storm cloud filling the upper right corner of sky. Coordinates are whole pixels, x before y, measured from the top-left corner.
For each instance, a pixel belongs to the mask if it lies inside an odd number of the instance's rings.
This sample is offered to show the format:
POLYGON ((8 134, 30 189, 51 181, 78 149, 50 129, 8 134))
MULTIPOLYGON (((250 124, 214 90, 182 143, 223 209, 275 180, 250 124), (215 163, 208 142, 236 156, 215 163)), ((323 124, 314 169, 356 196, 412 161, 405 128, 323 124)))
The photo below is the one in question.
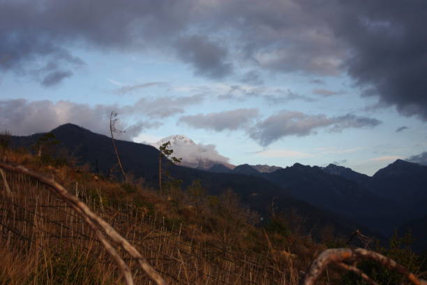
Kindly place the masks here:
POLYGON ((343 67, 366 96, 427 120, 426 1, 305 1, 305 8, 347 43, 343 67))

